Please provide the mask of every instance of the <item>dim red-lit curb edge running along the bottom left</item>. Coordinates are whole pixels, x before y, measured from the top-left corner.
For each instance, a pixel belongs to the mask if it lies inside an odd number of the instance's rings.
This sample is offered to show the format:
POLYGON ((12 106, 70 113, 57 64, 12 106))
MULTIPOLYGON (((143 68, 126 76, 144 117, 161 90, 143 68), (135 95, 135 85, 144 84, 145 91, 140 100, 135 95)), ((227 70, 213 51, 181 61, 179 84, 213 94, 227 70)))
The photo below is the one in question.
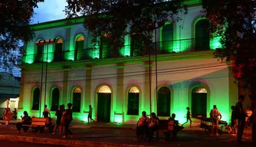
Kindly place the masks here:
POLYGON ((150 147, 146 145, 127 145, 127 144, 116 144, 107 142, 88 142, 70 139, 48 139, 48 138, 37 138, 37 137, 26 137, 26 136, 8 136, 0 135, 0 140, 6 140, 9 142, 31 142, 38 144, 48 145, 65 145, 72 147, 88 146, 88 147, 150 147))

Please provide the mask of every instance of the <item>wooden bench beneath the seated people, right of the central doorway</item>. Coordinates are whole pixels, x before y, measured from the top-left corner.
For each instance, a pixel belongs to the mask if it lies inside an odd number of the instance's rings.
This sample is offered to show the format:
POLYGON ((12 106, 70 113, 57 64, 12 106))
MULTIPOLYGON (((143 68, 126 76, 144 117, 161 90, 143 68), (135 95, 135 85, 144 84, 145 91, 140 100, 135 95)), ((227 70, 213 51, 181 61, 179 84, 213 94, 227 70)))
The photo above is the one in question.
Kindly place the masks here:
POLYGON ((174 129, 174 121, 159 119, 159 126, 158 126, 158 129, 156 130, 156 139, 159 139, 159 132, 172 133, 173 129, 174 129))

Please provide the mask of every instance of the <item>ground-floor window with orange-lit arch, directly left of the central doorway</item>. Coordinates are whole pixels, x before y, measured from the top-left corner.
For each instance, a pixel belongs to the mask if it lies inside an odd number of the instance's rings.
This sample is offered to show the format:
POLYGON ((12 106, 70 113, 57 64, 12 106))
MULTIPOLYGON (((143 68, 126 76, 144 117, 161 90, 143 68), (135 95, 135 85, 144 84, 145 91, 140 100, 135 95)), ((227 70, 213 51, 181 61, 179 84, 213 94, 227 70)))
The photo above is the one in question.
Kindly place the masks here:
POLYGON ((79 87, 73 90, 73 112, 80 113, 82 91, 79 87))

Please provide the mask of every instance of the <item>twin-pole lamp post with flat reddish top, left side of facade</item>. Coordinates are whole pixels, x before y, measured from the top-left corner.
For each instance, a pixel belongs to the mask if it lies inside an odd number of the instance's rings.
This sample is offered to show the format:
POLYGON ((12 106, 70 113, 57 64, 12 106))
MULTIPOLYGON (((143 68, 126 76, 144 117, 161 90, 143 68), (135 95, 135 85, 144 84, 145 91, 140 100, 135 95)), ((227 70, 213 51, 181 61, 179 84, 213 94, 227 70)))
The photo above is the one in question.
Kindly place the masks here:
MULTIPOLYGON (((46 47, 46 63, 45 63, 45 80, 44 80, 44 105, 46 100, 46 86, 47 86, 47 72, 48 72, 48 47, 49 44, 54 44, 56 39, 49 39, 49 40, 43 40, 43 41, 36 41, 35 44, 37 46, 43 46, 43 55, 44 55, 44 45, 47 45, 46 47)), ((42 100, 42 89, 43 89, 43 73, 44 73, 44 56, 41 59, 41 90, 40 90, 40 100, 39 100, 39 117, 41 117, 41 100, 42 100)))

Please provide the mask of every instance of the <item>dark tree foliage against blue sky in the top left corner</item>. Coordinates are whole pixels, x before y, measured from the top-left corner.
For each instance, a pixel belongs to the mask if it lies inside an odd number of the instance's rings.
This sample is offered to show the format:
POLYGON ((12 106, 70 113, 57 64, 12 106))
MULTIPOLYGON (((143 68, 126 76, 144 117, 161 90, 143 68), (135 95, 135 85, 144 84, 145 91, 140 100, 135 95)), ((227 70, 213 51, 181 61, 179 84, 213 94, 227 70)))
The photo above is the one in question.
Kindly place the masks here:
POLYGON ((0 0, 0 68, 11 71, 22 54, 19 42, 34 37, 29 23, 38 2, 44 0, 0 0))

